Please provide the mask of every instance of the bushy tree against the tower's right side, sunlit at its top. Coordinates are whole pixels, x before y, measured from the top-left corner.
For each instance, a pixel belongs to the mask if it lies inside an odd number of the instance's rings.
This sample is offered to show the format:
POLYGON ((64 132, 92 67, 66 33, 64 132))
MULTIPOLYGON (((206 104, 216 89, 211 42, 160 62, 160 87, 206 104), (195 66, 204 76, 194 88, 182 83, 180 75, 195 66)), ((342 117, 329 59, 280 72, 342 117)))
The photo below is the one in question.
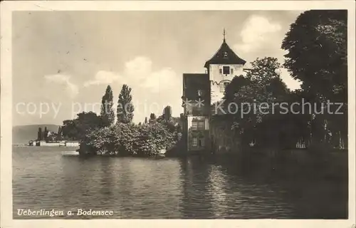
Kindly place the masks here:
POLYGON ((251 66, 246 78, 236 76, 227 86, 224 109, 228 115, 221 118, 224 122, 231 121, 232 128, 240 135, 243 145, 248 145, 257 138, 259 145, 268 143, 275 146, 278 145, 276 138, 281 125, 273 116, 271 108, 273 103, 284 101, 289 90, 281 80, 278 71, 281 64, 277 58, 257 58, 251 66), (261 110, 261 105, 268 105, 268 109, 261 110), (270 129, 273 129, 272 133, 270 129))

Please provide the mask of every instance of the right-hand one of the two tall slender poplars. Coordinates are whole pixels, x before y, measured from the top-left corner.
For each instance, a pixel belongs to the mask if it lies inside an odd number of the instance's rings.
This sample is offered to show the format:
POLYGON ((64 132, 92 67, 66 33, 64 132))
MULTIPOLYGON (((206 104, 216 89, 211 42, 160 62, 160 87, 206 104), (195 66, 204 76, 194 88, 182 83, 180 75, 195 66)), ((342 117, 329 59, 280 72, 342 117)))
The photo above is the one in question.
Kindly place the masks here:
POLYGON ((134 110, 131 88, 124 84, 117 102, 117 123, 131 123, 134 110))

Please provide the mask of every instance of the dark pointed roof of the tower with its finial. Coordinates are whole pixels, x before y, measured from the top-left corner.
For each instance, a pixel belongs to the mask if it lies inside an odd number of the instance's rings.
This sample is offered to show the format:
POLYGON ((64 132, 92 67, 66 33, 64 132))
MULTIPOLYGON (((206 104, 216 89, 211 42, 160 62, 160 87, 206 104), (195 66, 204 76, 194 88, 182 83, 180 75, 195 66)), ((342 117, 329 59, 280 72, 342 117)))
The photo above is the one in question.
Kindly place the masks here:
POLYGON ((204 67, 208 68, 209 64, 242 64, 244 65, 246 61, 244 59, 240 58, 239 56, 232 51, 232 49, 229 47, 229 45, 226 43, 225 40, 225 29, 224 29, 224 40, 223 43, 221 44, 220 48, 218 51, 216 51, 215 55, 209 59, 209 61, 206 61, 204 67))

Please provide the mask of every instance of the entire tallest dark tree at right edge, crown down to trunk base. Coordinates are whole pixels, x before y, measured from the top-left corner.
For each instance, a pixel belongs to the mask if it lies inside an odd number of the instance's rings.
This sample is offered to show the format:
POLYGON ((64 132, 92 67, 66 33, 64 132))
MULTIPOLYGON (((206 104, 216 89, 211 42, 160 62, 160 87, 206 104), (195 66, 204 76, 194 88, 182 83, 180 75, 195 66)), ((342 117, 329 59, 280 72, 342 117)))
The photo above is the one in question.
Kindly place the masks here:
POLYGON ((319 108, 327 100, 343 103, 343 115, 310 118, 313 143, 328 143, 326 126, 334 141, 342 138, 347 145, 347 11, 305 11, 290 25, 282 48, 288 51, 284 66, 303 82, 308 102, 319 108))

